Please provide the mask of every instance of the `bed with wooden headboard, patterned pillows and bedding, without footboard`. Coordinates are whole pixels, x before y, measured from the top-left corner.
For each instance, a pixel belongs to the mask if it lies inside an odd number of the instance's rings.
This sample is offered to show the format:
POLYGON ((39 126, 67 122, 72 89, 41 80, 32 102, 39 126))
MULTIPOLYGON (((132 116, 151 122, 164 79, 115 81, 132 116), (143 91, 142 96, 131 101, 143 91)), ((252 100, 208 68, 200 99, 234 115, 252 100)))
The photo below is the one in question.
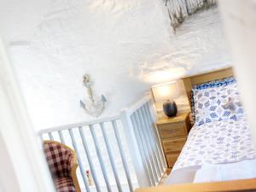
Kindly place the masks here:
POLYGON ((165 184, 256 177, 253 139, 232 68, 191 76, 183 83, 195 125, 165 184))

